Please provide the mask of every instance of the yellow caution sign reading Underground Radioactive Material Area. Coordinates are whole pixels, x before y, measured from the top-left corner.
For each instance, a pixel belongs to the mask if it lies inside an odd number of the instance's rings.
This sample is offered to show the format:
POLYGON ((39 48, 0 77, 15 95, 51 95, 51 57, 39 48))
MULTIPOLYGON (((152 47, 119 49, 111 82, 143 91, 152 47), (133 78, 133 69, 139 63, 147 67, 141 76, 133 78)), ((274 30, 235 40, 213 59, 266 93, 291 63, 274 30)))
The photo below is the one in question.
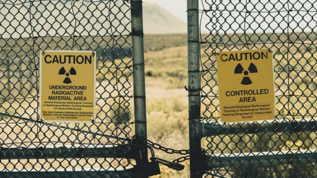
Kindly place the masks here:
POLYGON ((40 54, 40 117, 46 122, 91 122, 95 118, 96 54, 40 54))

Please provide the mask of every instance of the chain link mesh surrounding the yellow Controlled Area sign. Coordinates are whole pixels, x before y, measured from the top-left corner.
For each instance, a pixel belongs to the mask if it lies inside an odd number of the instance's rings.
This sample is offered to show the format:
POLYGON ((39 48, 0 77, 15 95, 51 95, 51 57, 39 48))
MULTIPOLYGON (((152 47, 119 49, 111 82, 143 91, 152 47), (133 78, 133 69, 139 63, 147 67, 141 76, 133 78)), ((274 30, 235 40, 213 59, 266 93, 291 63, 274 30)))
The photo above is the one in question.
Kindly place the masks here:
POLYGON ((201 29, 209 31, 201 39, 206 43, 201 45, 201 121, 214 125, 214 134, 202 141, 210 162, 205 177, 315 178, 317 2, 202 0, 200 13, 201 29), (273 52, 276 117, 222 123, 216 53, 249 49, 273 52))

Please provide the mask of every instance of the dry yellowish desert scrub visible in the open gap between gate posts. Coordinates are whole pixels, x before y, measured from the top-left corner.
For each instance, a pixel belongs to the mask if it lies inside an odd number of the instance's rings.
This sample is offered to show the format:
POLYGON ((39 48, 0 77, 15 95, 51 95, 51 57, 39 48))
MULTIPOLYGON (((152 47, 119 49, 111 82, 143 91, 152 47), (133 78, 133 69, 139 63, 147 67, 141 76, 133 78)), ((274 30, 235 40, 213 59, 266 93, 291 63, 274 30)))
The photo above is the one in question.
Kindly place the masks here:
MULTIPOLYGON (((159 36, 156 37, 159 41, 159 36)), ((175 43, 165 44, 182 46, 155 47, 145 53, 148 138, 166 147, 188 149, 187 91, 183 89, 187 85, 186 36, 174 36, 174 39, 175 43), (178 43, 177 39, 183 42, 178 43)), ((159 150, 155 150, 155 155, 166 160, 182 156, 159 150)), ((161 175, 153 178, 189 178, 189 161, 182 164, 183 171, 160 165, 161 175)))

